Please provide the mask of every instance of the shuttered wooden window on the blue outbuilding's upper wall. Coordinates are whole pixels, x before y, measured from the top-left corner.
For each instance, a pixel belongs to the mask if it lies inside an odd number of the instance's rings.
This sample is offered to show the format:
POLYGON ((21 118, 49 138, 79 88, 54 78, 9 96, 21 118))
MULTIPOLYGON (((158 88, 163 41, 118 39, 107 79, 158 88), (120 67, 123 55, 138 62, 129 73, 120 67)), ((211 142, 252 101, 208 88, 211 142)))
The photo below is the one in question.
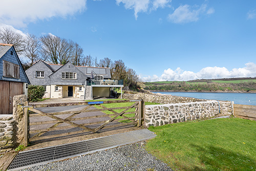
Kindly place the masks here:
POLYGON ((3 60, 4 77, 19 78, 19 65, 3 60))

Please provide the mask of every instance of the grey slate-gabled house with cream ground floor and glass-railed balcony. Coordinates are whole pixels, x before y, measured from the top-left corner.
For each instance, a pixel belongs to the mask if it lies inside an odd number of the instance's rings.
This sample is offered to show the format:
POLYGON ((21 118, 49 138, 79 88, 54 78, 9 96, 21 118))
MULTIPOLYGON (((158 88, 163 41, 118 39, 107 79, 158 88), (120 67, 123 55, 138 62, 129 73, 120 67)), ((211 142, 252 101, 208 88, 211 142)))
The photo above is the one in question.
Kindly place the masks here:
POLYGON ((31 84, 44 86, 45 98, 113 97, 116 88, 123 87, 122 81, 111 80, 110 68, 54 65, 38 60, 26 70, 31 84))

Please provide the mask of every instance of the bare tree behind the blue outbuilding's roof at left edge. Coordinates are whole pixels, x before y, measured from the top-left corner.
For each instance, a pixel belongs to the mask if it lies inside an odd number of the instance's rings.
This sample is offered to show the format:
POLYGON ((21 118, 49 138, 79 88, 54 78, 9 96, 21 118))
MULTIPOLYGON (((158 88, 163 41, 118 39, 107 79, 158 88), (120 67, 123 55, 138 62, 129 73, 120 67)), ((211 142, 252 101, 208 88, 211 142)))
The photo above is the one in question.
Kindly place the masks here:
POLYGON ((25 50, 24 37, 22 34, 19 34, 9 28, 0 29, 0 42, 3 44, 12 44, 18 53, 22 54, 25 50))

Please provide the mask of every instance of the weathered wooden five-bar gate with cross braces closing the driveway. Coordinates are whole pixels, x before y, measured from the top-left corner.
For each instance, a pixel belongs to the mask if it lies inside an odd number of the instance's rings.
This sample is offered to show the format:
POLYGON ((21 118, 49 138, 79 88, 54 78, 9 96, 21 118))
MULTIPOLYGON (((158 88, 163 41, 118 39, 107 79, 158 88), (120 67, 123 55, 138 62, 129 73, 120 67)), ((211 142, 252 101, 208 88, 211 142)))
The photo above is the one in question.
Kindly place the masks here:
MULTIPOLYGON (((27 104, 28 103, 26 102, 25 105, 27 104)), ((63 104, 60 104, 60 105, 63 106, 63 104)), ((72 103, 69 103, 69 105, 72 105, 72 103)), ((144 106, 143 100, 92 101, 92 102, 79 103, 79 105, 84 105, 82 106, 83 109, 79 111, 55 112, 55 113, 45 113, 45 112, 39 111, 38 109, 34 108, 36 106, 25 107, 24 108, 25 137, 26 137, 24 142, 25 146, 28 145, 28 141, 46 140, 50 138, 70 136, 70 135, 81 134, 85 132, 95 133, 100 129, 114 128, 114 127, 126 126, 131 124, 141 126, 141 118, 142 118, 141 113, 143 110, 142 106, 144 106), (124 102, 131 102, 132 104, 129 103, 129 106, 120 106, 115 108, 111 108, 111 107, 108 108, 107 106, 105 106, 105 104, 110 104, 110 103, 124 104, 124 102), (63 118, 63 115, 66 115, 66 117, 63 118), (51 120, 38 121, 37 119, 37 121, 31 122, 31 120, 35 120, 34 118, 36 117, 39 120, 41 120, 40 117, 49 117, 51 118, 51 120), (103 117, 104 118, 107 117, 108 119, 100 120, 100 121, 97 120, 103 117), (91 119, 91 122, 86 121, 90 119, 91 119), (122 123, 120 121, 126 121, 126 123, 122 123), (78 123, 78 122, 87 122, 87 123, 78 123), (42 127, 43 125, 48 125, 48 127, 44 127, 44 129, 31 129, 32 126, 42 127), (30 129, 28 129, 29 127, 30 129), (74 132, 67 131, 68 129, 73 129, 74 127, 78 127, 79 130, 74 132), (45 135, 46 133, 49 133, 51 131, 62 131, 65 133, 45 135)))

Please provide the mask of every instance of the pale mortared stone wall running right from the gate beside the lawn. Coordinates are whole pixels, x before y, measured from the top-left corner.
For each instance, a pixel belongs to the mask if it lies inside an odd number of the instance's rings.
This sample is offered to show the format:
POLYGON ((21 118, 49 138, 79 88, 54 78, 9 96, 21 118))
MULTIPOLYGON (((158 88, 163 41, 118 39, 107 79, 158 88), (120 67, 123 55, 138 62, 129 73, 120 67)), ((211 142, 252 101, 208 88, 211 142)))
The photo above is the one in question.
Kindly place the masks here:
POLYGON ((177 104, 146 105, 144 125, 161 126, 169 123, 209 118, 218 114, 219 103, 217 100, 177 104))

